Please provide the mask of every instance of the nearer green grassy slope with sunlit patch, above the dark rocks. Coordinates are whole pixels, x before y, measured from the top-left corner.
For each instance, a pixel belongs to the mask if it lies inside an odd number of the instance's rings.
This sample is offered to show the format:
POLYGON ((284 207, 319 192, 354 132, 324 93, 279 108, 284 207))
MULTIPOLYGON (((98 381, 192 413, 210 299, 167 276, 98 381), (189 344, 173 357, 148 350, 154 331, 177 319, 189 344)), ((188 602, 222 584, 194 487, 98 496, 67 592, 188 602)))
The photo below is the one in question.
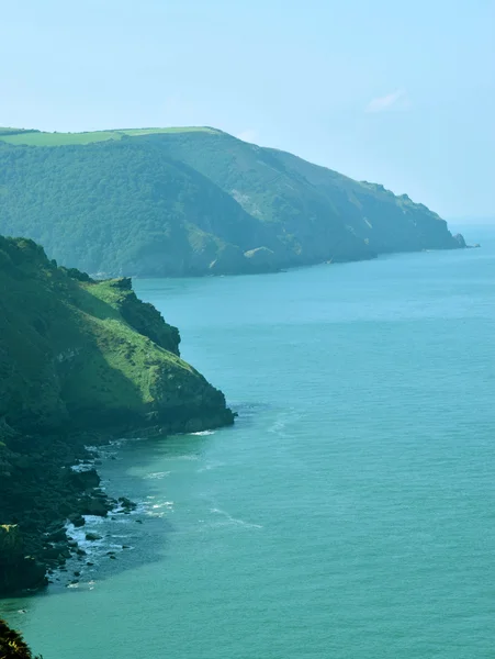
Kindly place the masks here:
POLYGON ((179 333, 125 279, 92 282, 0 238, 0 418, 23 432, 232 422, 179 356, 179 333))

